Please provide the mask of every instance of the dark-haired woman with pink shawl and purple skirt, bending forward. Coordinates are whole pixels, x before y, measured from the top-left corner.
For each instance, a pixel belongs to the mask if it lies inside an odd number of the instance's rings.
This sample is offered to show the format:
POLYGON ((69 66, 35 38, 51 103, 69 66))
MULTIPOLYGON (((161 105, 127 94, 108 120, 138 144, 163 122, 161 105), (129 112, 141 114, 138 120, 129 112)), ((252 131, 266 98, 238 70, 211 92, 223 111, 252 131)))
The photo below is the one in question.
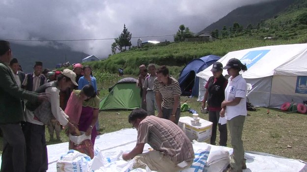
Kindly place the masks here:
POLYGON ((94 145, 97 136, 95 123, 98 120, 99 98, 92 85, 85 85, 82 90, 74 90, 65 109, 70 122, 76 125, 85 135, 91 135, 94 145))

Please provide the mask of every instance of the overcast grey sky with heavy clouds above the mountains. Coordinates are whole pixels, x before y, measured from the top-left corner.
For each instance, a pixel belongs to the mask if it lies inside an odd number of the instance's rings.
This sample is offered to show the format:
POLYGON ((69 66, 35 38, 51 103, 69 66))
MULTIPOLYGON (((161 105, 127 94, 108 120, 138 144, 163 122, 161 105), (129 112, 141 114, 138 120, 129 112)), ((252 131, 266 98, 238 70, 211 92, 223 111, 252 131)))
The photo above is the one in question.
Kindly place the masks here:
MULTIPOLYGON (((124 24, 132 37, 175 34, 182 24, 199 32, 237 7, 263 1, 269 0, 0 0, 0 39, 108 39, 118 37, 124 24)), ((141 39, 172 42, 173 36, 141 39)), ((131 41, 137 45, 137 38, 131 41)), ((113 42, 60 43, 106 58, 113 42)))

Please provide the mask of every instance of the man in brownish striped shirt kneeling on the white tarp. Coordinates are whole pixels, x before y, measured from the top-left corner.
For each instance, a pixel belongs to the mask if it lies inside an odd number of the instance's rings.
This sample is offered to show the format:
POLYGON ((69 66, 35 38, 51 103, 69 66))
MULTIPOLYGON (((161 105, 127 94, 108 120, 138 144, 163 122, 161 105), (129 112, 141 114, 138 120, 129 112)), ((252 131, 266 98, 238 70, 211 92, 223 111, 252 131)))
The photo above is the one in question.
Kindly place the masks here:
POLYGON ((147 112, 137 108, 131 112, 128 122, 138 130, 137 145, 124 160, 135 158, 133 168, 145 168, 158 172, 179 172, 189 168, 194 160, 192 143, 184 132, 173 122, 147 116, 147 112), (142 153, 145 143, 154 150, 142 153))

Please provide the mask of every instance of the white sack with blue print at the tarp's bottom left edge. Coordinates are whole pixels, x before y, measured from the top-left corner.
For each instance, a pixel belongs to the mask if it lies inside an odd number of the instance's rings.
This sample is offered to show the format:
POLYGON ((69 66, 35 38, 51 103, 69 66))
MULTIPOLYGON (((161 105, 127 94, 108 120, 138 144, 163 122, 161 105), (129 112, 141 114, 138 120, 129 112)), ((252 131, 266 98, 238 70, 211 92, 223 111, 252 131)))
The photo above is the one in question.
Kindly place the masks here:
POLYGON ((76 150, 69 150, 56 162, 56 172, 88 172, 90 157, 76 150))

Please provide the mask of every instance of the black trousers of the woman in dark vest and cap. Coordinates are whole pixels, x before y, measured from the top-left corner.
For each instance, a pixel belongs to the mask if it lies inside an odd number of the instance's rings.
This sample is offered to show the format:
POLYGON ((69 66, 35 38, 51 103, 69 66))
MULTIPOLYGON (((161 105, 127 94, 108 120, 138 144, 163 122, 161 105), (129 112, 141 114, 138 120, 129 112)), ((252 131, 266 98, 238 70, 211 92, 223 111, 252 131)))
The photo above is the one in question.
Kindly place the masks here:
POLYGON ((209 110, 209 121, 212 122, 212 136, 210 139, 211 145, 216 145, 215 140, 217 138, 217 125, 219 125, 220 131, 220 146, 227 145, 227 124, 221 125, 219 123, 220 111, 210 111, 209 110))

